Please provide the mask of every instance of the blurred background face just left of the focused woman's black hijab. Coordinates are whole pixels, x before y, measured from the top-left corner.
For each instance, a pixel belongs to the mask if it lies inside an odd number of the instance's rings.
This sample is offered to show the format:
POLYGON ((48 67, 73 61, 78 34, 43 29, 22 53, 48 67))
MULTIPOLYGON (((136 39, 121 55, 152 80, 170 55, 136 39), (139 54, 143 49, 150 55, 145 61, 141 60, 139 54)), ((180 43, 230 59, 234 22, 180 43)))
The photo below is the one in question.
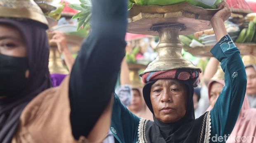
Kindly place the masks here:
POLYGON ((128 106, 129 110, 132 112, 138 112, 142 108, 142 98, 138 90, 133 89, 133 96, 130 105, 128 106))

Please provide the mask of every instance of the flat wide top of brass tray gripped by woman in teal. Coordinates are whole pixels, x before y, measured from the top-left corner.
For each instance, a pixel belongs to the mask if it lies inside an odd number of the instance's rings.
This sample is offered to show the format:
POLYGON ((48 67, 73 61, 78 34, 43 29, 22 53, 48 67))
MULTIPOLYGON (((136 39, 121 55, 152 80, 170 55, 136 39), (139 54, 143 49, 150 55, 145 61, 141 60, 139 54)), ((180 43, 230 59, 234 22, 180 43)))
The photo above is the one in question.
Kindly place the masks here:
POLYGON ((153 25, 163 23, 184 24, 186 29, 180 35, 189 35, 197 31, 211 28, 211 17, 219 9, 203 9, 183 2, 168 6, 141 6, 133 5, 129 10, 127 32, 158 36, 159 33, 152 29, 153 25))

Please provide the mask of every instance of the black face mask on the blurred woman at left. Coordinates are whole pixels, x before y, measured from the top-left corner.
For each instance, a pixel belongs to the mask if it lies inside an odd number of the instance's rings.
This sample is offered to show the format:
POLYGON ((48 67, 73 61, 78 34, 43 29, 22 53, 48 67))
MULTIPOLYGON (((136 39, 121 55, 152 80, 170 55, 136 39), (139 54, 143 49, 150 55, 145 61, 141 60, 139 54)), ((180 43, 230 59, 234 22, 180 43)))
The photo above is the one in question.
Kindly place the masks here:
POLYGON ((0 97, 21 93, 28 83, 27 58, 0 54, 0 97))

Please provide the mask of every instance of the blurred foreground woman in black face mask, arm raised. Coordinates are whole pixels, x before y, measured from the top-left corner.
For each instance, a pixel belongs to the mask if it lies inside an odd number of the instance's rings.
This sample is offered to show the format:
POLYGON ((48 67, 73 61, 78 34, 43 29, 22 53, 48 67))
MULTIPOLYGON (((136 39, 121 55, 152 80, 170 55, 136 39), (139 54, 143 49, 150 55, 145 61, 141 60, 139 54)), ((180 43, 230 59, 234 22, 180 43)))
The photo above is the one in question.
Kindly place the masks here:
POLYGON ((92 6, 92 32, 71 76, 50 88, 42 11, 33 0, 0 1, 0 143, 104 139, 126 46, 126 0, 93 0, 92 6))

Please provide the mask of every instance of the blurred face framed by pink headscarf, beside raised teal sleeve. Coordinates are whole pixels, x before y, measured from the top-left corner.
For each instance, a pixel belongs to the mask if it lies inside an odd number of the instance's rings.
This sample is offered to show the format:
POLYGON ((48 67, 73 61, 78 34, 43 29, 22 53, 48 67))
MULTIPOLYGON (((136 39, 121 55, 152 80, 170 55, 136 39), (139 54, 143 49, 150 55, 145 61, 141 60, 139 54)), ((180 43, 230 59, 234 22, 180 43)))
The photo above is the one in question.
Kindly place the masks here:
POLYGON ((217 82, 214 82, 212 85, 211 85, 211 91, 210 91, 210 105, 213 107, 214 104, 216 103, 219 95, 220 95, 220 92, 223 88, 223 85, 220 84, 220 83, 217 83, 217 82))

